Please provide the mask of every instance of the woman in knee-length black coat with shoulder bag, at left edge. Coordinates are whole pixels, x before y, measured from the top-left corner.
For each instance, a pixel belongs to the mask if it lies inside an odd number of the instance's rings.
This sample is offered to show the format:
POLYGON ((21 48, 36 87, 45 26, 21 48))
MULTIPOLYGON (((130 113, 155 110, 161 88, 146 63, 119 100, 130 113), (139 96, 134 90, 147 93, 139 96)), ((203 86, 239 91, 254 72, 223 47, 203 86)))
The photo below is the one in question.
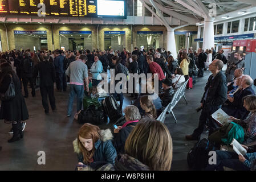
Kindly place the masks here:
POLYGON ((5 123, 13 124, 13 138, 8 142, 15 142, 23 138, 22 121, 29 119, 29 113, 21 93, 19 77, 14 73, 9 63, 2 63, 0 68, 0 93, 4 94, 7 91, 11 81, 15 86, 15 97, 11 100, 2 101, 0 110, 0 119, 4 119, 5 123))

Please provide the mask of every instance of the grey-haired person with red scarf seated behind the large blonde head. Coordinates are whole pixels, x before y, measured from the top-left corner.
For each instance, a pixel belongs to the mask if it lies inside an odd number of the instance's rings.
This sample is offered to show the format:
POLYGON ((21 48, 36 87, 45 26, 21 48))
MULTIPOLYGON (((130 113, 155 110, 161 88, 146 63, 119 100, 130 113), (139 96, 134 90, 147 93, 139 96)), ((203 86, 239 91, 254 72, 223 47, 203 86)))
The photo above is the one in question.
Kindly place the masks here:
POLYGON ((125 107, 124 114, 126 122, 114 130, 113 146, 116 148, 117 154, 124 153, 125 141, 141 118, 139 109, 133 105, 125 107))

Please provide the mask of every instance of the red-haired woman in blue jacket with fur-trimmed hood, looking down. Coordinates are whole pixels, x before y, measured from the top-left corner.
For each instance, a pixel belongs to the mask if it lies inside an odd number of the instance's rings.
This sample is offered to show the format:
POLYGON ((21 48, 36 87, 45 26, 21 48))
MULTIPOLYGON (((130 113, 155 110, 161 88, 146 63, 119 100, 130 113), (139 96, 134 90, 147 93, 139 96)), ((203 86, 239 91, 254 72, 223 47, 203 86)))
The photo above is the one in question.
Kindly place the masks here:
MULTIPOLYGON (((100 130, 99 127, 85 123, 78 132, 78 138, 73 142, 78 164, 90 166, 94 169, 106 163, 115 163, 116 149, 111 142, 113 135, 109 129, 100 130)), ((80 170, 82 167, 78 167, 80 170)))

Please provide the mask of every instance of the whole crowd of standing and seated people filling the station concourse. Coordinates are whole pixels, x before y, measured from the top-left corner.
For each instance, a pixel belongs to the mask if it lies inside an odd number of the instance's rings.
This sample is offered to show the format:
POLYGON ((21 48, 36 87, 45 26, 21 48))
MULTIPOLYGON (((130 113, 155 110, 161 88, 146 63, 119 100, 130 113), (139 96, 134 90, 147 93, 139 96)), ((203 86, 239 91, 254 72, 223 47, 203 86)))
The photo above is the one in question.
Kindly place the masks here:
MULTIPOLYGON (((170 170, 172 138, 164 123, 156 119, 185 81, 192 76, 203 77, 207 69, 212 75, 208 78, 201 99, 199 124, 193 134, 186 135, 185 138, 200 140, 206 128, 209 136, 220 129, 211 115, 222 108, 233 122, 245 129, 243 144, 256 139, 256 96, 251 88, 253 79, 249 75, 243 75, 245 61, 239 53, 235 56, 234 63, 226 60, 222 49, 216 53, 214 48, 193 51, 192 47, 188 51, 181 49, 178 57, 173 57, 170 51, 161 48, 149 49, 146 52, 136 47, 132 52, 125 48, 121 52, 113 49, 96 49, 92 52, 88 49, 38 52, 30 49, 13 50, 0 53, 0 57, 0 119, 12 123, 9 133, 13 133, 13 137, 9 142, 23 138, 26 120, 29 119, 25 102, 25 98, 29 97, 28 86, 31 88, 32 97, 35 97, 35 88, 40 88, 43 109, 48 114, 48 98, 51 110, 55 112, 57 109, 54 83, 56 82, 56 92, 66 92, 68 82, 67 117, 71 117, 75 96, 76 112, 82 110, 85 96, 96 96, 92 89, 97 88, 103 80, 100 73, 114 69, 115 76, 118 73, 157 74, 158 77, 153 75, 147 78, 152 82, 156 78, 159 81, 159 95, 154 100, 149 99, 149 90, 147 93, 140 93, 133 86, 130 97, 134 103, 123 108, 124 95, 115 90, 113 97, 119 101, 119 110, 124 111, 125 121, 113 133, 90 123, 85 123, 80 128, 73 142, 74 151, 78 154, 76 170, 170 170), (228 64, 226 73, 222 72, 224 64, 228 64), (14 96, 11 96, 12 88, 15 88, 14 96)), ((114 80, 114 84, 116 87, 119 80, 114 80)), ((133 84, 136 84, 136 80, 133 80, 133 84)), ((151 87, 153 89, 154 85, 151 87)), ((253 152, 253 149, 250 150, 253 152)), ((218 151, 218 164, 206 169, 222 169, 225 165, 234 169, 255 169, 255 165, 251 167, 249 164, 254 164, 251 161, 255 159, 256 153, 238 158, 233 153, 224 154, 225 152, 227 151, 218 151), (238 160, 242 163, 238 164, 238 160)))

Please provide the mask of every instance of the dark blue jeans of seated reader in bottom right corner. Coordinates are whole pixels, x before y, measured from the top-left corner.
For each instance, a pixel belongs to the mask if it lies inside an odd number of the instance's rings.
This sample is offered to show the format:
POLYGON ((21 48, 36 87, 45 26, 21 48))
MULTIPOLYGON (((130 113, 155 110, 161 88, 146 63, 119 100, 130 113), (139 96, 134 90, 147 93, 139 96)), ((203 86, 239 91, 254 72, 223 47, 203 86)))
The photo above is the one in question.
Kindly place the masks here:
MULTIPOLYGON (((217 164, 208 164, 206 167, 206 171, 224 171, 224 166, 234 169, 236 171, 249 171, 250 168, 245 166, 242 162, 239 161, 238 155, 235 152, 229 152, 229 151, 216 151, 217 154, 217 164)), ((245 156, 247 159, 247 156, 245 156)))

